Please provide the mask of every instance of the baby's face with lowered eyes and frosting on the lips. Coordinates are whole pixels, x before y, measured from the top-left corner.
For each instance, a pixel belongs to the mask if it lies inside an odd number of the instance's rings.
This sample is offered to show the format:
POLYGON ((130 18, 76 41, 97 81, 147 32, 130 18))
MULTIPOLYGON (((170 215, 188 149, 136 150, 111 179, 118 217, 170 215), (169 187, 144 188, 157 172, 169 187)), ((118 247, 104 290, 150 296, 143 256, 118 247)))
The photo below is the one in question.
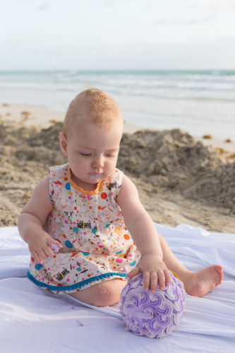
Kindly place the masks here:
POLYGON ((73 181, 93 190, 98 181, 109 177, 116 167, 123 124, 117 119, 105 131, 92 122, 78 121, 68 138, 61 134, 61 148, 68 156, 73 181))

